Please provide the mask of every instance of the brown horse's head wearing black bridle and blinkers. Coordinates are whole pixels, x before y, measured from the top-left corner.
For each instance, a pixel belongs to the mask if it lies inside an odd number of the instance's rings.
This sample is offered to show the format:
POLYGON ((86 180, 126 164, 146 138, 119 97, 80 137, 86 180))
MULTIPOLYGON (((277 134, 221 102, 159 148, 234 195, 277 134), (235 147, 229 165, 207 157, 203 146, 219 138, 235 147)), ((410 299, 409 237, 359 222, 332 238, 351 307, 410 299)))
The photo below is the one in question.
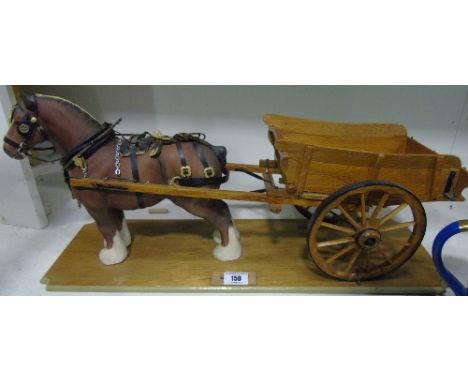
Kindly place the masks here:
POLYGON ((9 123, 3 138, 3 150, 12 158, 23 159, 32 147, 47 139, 34 95, 22 95, 21 102, 11 111, 9 123))

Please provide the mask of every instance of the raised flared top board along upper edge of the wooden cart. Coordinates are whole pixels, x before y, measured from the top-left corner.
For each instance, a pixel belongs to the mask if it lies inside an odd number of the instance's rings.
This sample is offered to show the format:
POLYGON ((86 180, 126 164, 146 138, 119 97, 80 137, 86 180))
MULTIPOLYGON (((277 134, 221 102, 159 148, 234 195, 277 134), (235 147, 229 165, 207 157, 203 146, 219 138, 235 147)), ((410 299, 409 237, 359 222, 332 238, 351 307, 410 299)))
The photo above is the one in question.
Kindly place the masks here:
POLYGON ((394 124, 347 124, 303 120, 292 117, 264 117, 270 142, 308 144, 384 153, 406 151, 406 129, 394 124))

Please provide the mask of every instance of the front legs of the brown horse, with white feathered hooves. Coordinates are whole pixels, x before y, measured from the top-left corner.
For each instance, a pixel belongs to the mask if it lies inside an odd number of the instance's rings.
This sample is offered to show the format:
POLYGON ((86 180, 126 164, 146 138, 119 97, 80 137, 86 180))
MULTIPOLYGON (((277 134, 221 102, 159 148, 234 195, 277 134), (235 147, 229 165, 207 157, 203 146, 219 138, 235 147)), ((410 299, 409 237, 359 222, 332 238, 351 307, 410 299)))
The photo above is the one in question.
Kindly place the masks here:
POLYGON ((123 262, 128 255, 127 245, 131 241, 123 212, 112 208, 86 209, 104 236, 104 248, 99 252, 101 262, 105 265, 123 262))

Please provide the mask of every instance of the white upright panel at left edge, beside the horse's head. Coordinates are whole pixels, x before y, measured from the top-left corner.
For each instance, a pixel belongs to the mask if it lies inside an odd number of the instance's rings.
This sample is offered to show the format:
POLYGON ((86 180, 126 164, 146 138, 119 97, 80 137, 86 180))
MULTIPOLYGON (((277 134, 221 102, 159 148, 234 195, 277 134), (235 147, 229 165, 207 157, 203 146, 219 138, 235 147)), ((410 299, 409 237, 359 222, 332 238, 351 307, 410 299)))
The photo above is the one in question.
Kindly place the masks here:
MULTIPOLYGON (((11 88, 0 86, 0 135, 8 129, 14 104, 11 88)), ((2 142, 3 146, 3 142, 2 142)), ((20 227, 43 228, 47 217, 28 160, 17 161, 0 150, 0 222, 20 227)))

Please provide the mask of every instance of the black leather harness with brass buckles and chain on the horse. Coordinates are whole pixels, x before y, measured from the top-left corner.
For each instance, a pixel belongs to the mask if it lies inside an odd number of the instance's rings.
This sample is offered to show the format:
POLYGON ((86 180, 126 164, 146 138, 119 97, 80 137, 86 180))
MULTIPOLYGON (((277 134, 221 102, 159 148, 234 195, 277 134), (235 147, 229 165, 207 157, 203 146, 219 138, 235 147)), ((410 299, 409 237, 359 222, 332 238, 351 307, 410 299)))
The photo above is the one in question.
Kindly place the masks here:
MULTIPOLYGON (((47 139, 47 134, 44 128, 40 125, 38 119, 37 102, 34 102, 35 110, 29 111, 23 108, 21 104, 17 104, 11 114, 10 122, 13 120, 14 111, 19 108, 25 113, 23 119, 18 121, 16 127, 18 134, 24 138, 21 143, 16 143, 8 137, 4 137, 5 143, 13 146, 18 153, 25 154, 32 157, 30 153, 30 147, 28 141, 31 140, 36 131, 40 131, 44 138, 47 139)), ((139 170, 138 170, 138 155, 143 155, 148 152, 149 156, 154 159, 158 159, 162 152, 164 145, 175 144, 179 155, 181 167, 179 174, 173 177, 170 181, 170 185, 180 185, 186 187, 200 187, 207 185, 220 185, 227 182, 229 179, 229 171, 226 169, 226 148, 223 146, 214 146, 205 140, 205 135, 201 133, 181 133, 176 134, 173 137, 165 136, 162 134, 152 135, 148 132, 143 134, 121 134, 116 133, 114 128, 122 121, 119 118, 115 123, 111 124, 104 122, 102 129, 98 132, 90 135, 75 146, 69 153, 60 159, 60 163, 63 166, 63 174, 65 182, 70 184, 69 171, 78 167, 83 172, 83 177, 88 176, 88 166, 86 160, 91 157, 99 148, 110 142, 112 139, 117 139, 116 152, 115 152, 115 175, 120 179, 120 159, 121 157, 129 156, 132 170, 132 181, 139 182, 139 170), (183 142, 190 142, 203 165, 203 178, 192 177, 192 168, 187 163, 187 159, 182 147, 183 142), (218 159, 221 168, 221 176, 216 177, 213 167, 211 167, 206 159, 205 153, 201 146, 208 147, 213 151, 216 158, 218 159)), ((51 150, 53 147, 46 148, 35 148, 35 150, 51 150)), ((37 158, 40 159, 40 158, 37 158)), ((44 159, 40 159, 45 162, 54 162, 44 159)), ((138 206, 144 207, 143 194, 136 193, 138 206)))

